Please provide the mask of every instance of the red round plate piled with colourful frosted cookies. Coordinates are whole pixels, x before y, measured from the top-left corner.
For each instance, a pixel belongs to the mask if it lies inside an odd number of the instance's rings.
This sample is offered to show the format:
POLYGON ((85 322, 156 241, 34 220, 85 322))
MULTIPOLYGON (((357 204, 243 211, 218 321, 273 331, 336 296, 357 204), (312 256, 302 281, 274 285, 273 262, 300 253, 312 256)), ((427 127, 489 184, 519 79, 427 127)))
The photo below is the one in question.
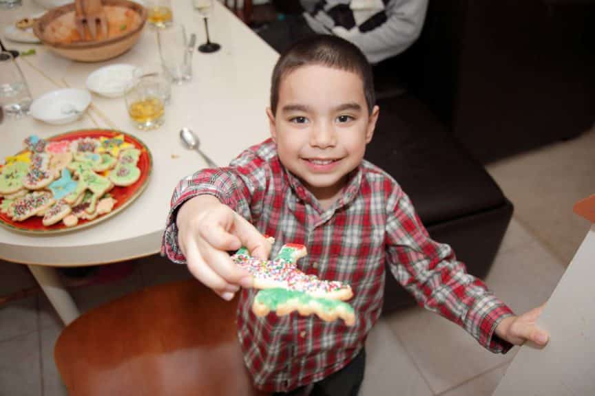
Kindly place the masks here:
POLYGON ((121 131, 32 135, 23 146, 0 165, 0 225, 17 232, 70 232, 109 219, 151 175, 149 148, 121 131))

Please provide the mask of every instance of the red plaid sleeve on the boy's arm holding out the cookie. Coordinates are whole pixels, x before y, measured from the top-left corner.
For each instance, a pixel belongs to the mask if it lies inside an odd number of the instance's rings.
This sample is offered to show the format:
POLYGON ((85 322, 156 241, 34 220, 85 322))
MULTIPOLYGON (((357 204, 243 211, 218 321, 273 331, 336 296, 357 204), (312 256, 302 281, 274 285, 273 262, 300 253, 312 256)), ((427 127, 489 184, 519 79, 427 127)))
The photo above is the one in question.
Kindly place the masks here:
POLYGON ((182 179, 171 197, 171 208, 165 223, 161 255, 174 263, 185 264, 186 258, 178 245, 176 218, 180 206, 198 195, 213 195, 253 222, 260 212, 262 195, 267 184, 267 163, 252 151, 244 151, 225 168, 205 168, 182 179))

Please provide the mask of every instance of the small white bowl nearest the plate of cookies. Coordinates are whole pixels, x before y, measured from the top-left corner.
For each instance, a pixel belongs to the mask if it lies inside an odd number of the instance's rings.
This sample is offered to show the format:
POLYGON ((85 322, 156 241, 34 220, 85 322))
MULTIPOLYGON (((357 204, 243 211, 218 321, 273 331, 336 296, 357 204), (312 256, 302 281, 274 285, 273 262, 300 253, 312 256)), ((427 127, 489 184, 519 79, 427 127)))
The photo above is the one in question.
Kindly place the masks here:
POLYGON ((36 98, 30 114, 48 124, 67 124, 81 117, 90 103, 91 94, 84 89, 56 89, 36 98))

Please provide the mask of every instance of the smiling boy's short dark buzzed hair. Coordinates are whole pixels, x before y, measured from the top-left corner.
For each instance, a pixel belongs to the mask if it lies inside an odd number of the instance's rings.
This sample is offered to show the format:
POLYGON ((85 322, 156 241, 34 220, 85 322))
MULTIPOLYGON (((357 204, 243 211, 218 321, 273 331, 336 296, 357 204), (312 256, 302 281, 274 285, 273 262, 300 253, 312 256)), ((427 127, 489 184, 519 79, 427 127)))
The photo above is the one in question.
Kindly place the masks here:
POLYGON ((281 55, 271 78, 271 111, 277 112, 282 78, 302 66, 321 65, 353 72, 362 78, 368 113, 376 103, 372 67, 358 47, 330 34, 319 34, 296 41, 281 55))

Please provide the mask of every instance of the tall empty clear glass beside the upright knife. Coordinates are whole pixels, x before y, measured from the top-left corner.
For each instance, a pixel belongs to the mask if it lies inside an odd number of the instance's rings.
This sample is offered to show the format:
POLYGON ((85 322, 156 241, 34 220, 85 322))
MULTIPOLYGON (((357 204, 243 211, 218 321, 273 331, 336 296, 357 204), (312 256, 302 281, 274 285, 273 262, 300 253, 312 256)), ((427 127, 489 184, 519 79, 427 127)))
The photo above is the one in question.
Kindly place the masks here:
POLYGON ((171 82, 181 85, 192 80, 192 48, 183 25, 171 25, 157 31, 161 63, 171 78, 171 82))

